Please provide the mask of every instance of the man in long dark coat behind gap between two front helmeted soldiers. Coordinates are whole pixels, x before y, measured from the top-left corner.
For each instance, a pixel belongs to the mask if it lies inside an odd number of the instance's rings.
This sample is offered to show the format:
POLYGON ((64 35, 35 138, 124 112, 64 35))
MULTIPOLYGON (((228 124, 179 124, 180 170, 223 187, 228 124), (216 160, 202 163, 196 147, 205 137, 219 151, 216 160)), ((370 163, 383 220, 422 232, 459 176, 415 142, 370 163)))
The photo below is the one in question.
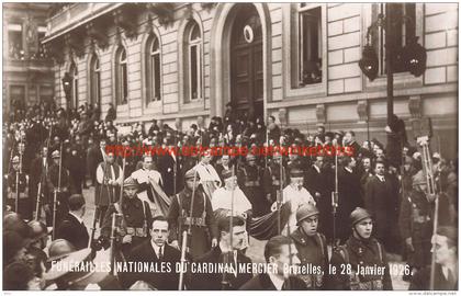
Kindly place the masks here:
POLYGON ((356 159, 353 157, 344 157, 344 168, 338 171, 338 238, 345 242, 350 235, 348 227, 349 216, 358 206, 363 206, 360 179, 356 172, 356 159))

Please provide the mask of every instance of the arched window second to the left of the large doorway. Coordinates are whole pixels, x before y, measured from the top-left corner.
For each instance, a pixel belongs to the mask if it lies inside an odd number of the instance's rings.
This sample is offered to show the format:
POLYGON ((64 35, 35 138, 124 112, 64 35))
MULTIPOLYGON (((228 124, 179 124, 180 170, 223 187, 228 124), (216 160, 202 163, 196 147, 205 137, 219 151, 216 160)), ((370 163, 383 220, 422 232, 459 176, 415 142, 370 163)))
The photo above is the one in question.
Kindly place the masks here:
POLYGON ((160 43, 156 35, 151 35, 146 45, 146 82, 147 103, 161 100, 160 77, 160 43))

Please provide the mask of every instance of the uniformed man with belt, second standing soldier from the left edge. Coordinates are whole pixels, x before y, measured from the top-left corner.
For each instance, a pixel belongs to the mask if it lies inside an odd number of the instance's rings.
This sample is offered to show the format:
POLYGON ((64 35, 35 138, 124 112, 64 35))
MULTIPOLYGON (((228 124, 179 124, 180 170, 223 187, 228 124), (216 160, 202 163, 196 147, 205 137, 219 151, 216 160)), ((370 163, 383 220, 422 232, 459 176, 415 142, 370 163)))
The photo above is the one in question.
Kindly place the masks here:
MULTIPOLYGON (((60 187, 59 187, 59 150, 55 150, 52 153, 53 163, 49 166, 49 171, 47 175, 47 186, 49 195, 48 201, 44 204, 46 213, 46 223, 47 225, 53 224, 53 208, 54 208, 54 193, 57 192, 57 207, 56 207, 56 221, 59 224, 60 219, 69 212, 67 200, 70 196, 70 182, 69 182, 69 172, 63 166, 60 168, 60 187)), ((61 163, 63 164, 63 163, 61 163)))

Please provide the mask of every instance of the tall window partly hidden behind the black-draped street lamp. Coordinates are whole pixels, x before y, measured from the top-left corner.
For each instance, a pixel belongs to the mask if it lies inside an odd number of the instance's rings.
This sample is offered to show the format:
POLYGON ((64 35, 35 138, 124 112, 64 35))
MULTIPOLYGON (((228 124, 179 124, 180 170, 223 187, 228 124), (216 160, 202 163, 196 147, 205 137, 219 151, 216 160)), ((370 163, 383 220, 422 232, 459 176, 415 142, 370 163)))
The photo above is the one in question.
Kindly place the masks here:
MULTIPOLYGON (((386 5, 390 5, 391 19, 395 24, 394 34, 391 38, 395 53, 398 53, 406 43, 416 36, 416 4, 415 3, 379 3, 373 4, 372 21, 375 22, 380 14, 385 15, 386 5)), ((385 30, 383 26, 378 29, 378 33, 372 32, 372 44, 376 53, 379 53, 380 70, 379 73, 385 75, 385 30)), ((395 55, 397 57, 397 55, 395 55)), ((405 72, 403 62, 392 61, 393 72, 405 72)))

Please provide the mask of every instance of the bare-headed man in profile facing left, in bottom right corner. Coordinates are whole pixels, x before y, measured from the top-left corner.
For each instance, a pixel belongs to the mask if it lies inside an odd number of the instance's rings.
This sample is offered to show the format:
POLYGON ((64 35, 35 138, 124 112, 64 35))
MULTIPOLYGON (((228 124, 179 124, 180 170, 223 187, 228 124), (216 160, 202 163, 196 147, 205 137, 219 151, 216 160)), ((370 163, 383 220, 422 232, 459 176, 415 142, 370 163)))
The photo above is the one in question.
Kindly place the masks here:
MULTIPOLYGON (((434 289, 458 291, 458 229, 440 226, 431 238, 436 253, 434 289)), ((430 289, 430 266, 418 271, 412 278, 409 289, 430 289)))

